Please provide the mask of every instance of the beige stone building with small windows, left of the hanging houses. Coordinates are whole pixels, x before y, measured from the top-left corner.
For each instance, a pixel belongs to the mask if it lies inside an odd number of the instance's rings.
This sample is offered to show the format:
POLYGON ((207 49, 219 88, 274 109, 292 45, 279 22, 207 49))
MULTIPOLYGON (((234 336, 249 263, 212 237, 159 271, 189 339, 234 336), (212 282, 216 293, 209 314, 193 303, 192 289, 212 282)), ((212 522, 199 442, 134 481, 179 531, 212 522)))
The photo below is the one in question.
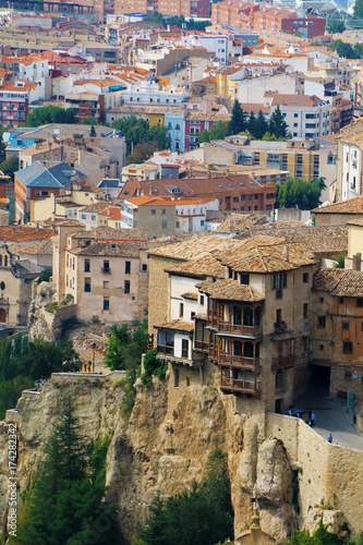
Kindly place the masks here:
POLYGON ((70 293, 80 319, 132 322, 147 307, 145 231, 63 222, 53 240, 58 300, 70 293))

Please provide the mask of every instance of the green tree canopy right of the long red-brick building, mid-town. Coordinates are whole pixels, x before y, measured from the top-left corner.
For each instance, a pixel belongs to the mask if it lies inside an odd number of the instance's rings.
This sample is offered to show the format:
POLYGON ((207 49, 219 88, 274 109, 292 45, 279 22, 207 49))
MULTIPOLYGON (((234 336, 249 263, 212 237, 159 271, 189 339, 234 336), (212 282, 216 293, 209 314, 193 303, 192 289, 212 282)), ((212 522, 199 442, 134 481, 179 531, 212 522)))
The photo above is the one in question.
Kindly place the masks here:
POLYGON ((289 178, 276 187, 276 208, 312 210, 320 204, 322 190, 317 181, 303 182, 289 178))

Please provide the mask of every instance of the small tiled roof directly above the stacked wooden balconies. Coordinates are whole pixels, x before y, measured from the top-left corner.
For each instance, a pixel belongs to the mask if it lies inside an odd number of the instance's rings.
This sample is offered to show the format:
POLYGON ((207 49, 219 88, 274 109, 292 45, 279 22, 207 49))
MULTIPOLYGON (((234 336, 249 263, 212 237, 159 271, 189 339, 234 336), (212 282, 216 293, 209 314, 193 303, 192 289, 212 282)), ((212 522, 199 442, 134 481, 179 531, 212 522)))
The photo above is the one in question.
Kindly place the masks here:
POLYGON ((201 282, 196 284, 199 291, 210 299, 225 301, 263 301, 265 298, 251 286, 240 284, 235 280, 219 280, 218 282, 201 282))

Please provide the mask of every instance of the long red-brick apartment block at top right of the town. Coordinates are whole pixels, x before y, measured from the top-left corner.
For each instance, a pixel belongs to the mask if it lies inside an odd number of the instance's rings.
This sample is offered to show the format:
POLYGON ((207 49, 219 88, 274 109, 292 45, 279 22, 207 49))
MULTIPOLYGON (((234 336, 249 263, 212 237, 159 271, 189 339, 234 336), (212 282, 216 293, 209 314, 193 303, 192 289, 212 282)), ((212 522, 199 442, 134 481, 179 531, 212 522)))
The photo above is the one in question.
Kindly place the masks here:
POLYGON ((258 3, 223 0, 211 7, 211 24, 234 25, 256 32, 301 33, 303 37, 322 36, 325 19, 304 11, 268 8, 258 3))

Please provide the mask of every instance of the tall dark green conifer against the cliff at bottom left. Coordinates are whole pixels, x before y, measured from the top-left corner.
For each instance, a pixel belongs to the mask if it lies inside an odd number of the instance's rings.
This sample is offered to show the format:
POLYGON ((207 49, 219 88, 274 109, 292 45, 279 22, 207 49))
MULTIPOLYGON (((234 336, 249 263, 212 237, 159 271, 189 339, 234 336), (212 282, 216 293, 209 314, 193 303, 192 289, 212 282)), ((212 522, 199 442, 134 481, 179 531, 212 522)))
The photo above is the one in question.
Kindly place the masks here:
MULTIPOLYGON (((114 519, 113 509, 102 501, 106 444, 100 440, 87 452, 80 422, 68 399, 45 451, 46 458, 22 509, 16 541, 11 537, 10 543, 87 543, 93 520, 107 514, 110 521, 114 519)), ((110 532, 100 533, 97 543, 111 543, 110 532)))

